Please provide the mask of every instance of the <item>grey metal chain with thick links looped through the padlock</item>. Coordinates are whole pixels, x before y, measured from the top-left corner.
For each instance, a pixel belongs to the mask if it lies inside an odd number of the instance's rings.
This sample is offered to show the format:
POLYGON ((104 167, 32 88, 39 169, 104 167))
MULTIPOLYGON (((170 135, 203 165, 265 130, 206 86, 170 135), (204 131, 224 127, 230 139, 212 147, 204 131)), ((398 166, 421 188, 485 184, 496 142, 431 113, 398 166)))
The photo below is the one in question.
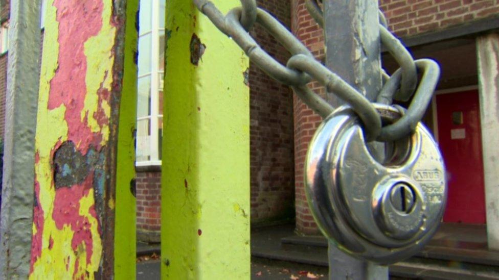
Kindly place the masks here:
MULTIPOLYGON (((270 77, 290 86, 306 105, 323 118, 329 116, 334 109, 326 100, 307 87, 312 79, 321 83, 328 92, 334 92, 347 101, 364 123, 367 141, 393 141, 411 133, 421 120, 429 103, 428 100, 431 99, 436 87, 439 75, 438 65, 430 60, 414 61, 402 43, 385 28, 387 21, 380 12, 381 42, 401 65, 401 68, 392 77, 384 70, 382 71, 385 84, 377 101, 391 104, 393 98, 409 99, 417 86, 417 69, 423 71, 422 81, 407 112, 395 123, 381 128, 381 118, 370 101, 341 77, 315 60, 310 50, 276 18, 257 8, 255 0, 240 0, 241 7, 232 9, 226 16, 208 0, 193 1, 220 31, 231 37, 244 50, 254 64, 270 77), (291 53, 292 56, 286 66, 265 52, 248 34, 248 30, 255 22, 266 29, 291 53)), ((323 26, 323 13, 318 1, 322 2, 321 0, 307 0, 306 6, 317 23, 323 26)))

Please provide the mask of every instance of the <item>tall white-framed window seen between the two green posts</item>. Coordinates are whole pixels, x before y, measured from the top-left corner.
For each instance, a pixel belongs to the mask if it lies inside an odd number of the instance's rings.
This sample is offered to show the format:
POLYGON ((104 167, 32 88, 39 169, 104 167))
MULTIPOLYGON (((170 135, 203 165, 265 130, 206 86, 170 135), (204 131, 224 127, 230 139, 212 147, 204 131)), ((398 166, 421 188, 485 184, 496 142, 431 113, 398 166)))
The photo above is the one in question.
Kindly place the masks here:
POLYGON ((161 165, 165 0, 140 2, 137 165, 161 165))

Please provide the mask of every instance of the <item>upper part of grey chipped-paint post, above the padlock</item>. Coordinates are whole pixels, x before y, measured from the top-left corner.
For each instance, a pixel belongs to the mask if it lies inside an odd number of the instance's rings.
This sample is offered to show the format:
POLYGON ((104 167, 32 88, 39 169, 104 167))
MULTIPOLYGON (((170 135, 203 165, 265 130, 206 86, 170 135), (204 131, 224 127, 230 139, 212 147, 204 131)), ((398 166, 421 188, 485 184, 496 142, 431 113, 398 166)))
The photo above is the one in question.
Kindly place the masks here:
MULTIPOLYGON (((326 65, 369 100, 381 89, 378 4, 373 1, 324 1, 326 65)), ((341 99, 328 93, 337 107, 341 99)))

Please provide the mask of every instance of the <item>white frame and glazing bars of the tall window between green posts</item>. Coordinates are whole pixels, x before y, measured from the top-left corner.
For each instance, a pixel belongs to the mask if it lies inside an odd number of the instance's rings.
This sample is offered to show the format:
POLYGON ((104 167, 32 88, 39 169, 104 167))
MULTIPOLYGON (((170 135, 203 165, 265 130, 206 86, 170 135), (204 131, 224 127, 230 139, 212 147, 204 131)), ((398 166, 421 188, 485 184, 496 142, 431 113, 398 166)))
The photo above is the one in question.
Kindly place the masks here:
MULTIPOLYGON (((151 2, 151 30, 145 33, 140 33, 140 36, 147 35, 151 33, 151 71, 145 72, 142 75, 138 76, 138 79, 142 77, 146 77, 150 75, 151 78, 151 92, 150 92, 150 112, 149 116, 138 117, 137 121, 149 119, 151 135, 149 137, 149 147, 150 147, 150 160, 148 161, 136 161, 135 166, 154 166, 161 165, 160 155, 159 155, 159 128, 158 128, 158 119, 163 118, 163 115, 159 112, 159 92, 163 91, 162 84, 160 85, 160 74, 163 74, 164 71, 160 71, 160 55, 159 55, 159 47, 160 47, 160 31, 164 31, 164 29, 160 29, 160 1, 165 0, 152 0, 151 2)), ((140 30, 140 29, 139 29, 140 30)), ((140 53, 139 53, 140 56, 140 53)))

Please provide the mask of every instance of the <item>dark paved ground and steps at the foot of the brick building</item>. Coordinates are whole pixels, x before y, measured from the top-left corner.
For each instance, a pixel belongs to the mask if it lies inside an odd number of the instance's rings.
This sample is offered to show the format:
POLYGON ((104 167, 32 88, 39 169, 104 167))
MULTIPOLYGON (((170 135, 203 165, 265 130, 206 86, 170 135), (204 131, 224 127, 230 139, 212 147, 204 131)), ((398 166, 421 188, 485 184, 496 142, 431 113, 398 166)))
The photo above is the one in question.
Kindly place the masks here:
MULTIPOLYGON (((328 269, 326 267, 327 242, 325 239, 321 237, 300 237, 301 239, 307 239, 308 243, 311 242, 313 244, 317 244, 310 246, 297 246, 291 244, 297 241, 294 240, 297 238, 298 237, 294 235, 293 224, 261 228, 259 230, 252 231, 251 247, 253 258, 251 264, 251 278, 257 280, 326 279, 328 269), (282 242, 283 240, 287 240, 287 243, 284 242, 284 244, 282 242), (286 261, 270 261, 268 258, 272 256, 280 256, 281 260, 286 261), (314 265, 297 263, 299 259, 304 258, 307 263, 314 265)), ((492 278, 499 279, 499 277, 497 277, 497 275, 499 275, 499 269, 497 268, 499 267, 499 254, 497 252, 488 251, 486 242, 486 230, 483 225, 442 224, 434 239, 430 241, 428 246, 426 246, 420 253, 421 256, 418 257, 419 259, 416 258, 418 259, 418 262, 409 268, 404 268, 405 270, 412 269, 411 273, 399 273, 399 276, 410 275, 412 277, 414 275, 423 275, 421 274, 422 271, 429 269, 426 266, 421 267, 421 265, 425 264, 424 261, 426 259, 424 258, 433 258, 441 260, 441 263, 437 264, 441 267, 438 266, 435 269, 432 268, 433 270, 431 271, 428 270, 429 274, 426 273, 428 275, 434 275, 435 273, 438 274, 443 271, 443 268, 445 270, 443 272, 447 273, 445 274, 447 277, 440 278, 449 278, 449 275, 456 275, 456 277, 452 277, 452 279, 469 279, 470 277, 468 276, 471 275, 470 273, 484 272, 485 270, 482 266, 485 265, 487 266, 487 269, 493 268, 492 272, 494 273, 497 270, 496 274, 489 274, 495 275, 492 278), (463 254, 463 252, 465 253, 463 254), (466 263, 467 266, 457 269, 456 266, 463 265, 463 262, 466 263), (473 267, 477 266, 477 268, 473 268, 471 265, 473 265, 473 267), (452 271, 449 272, 447 270, 452 271)), ((160 279, 160 262, 157 259, 155 260, 154 257, 151 258, 151 256, 155 256, 155 254, 160 254, 159 245, 138 243, 137 246, 140 260, 137 264, 137 279, 160 279)), ((404 272, 405 270, 400 271, 404 272)), ((394 271, 397 270, 395 269, 394 271)), ((396 273, 394 274, 398 275, 396 273)), ((490 276, 489 274, 487 275, 490 276)), ((474 276, 474 278, 476 278, 478 277, 478 274, 474 276)))

